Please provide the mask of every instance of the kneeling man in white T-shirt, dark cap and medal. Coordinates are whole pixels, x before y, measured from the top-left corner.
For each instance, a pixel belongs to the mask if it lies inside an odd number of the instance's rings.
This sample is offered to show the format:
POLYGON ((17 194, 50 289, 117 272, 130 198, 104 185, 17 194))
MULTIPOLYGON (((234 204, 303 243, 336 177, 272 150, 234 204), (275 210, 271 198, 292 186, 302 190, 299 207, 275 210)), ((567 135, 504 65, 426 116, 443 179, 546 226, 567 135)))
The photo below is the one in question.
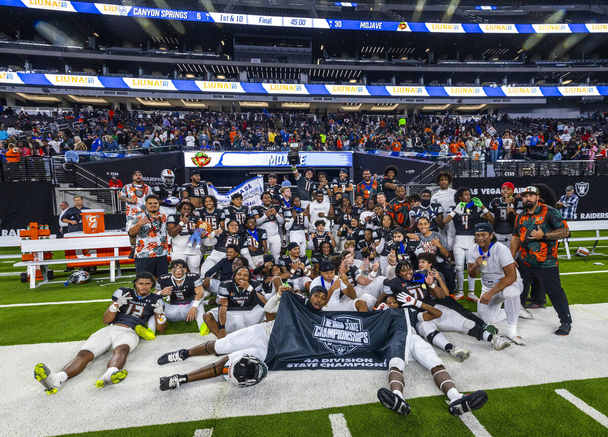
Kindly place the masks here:
MULTIPOLYGON (((526 342, 517 334, 517 318, 521 307, 519 296, 523 291, 523 282, 511 251, 506 245, 496 243, 492 225, 475 225, 475 244, 469 249, 466 260, 469 276, 481 276, 482 279, 482 295, 477 302, 477 312, 489 324, 496 324, 506 318, 506 338, 525 346, 526 342)), ((525 309, 523 311, 525 315, 529 314, 525 309)))

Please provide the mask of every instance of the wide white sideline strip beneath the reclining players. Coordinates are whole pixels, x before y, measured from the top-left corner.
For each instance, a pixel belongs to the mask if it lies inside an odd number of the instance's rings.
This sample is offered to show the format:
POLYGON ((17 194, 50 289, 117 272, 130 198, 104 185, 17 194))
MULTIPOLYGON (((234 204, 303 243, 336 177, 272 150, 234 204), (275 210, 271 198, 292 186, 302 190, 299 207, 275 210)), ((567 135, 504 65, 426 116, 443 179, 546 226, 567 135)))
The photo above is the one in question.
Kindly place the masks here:
MULTIPOLYGON (((437 351, 437 354, 463 393, 608 377, 605 366, 608 340, 600 334, 589 335, 590 332, 608 332, 608 303, 572 305, 570 311, 573 325, 567 337, 553 334, 559 324, 553 309, 533 310, 535 318, 520 320, 518 326, 527 346, 513 344, 497 352, 487 341, 447 332, 447 339, 468 348, 471 357, 464 363, 457 363, 443 351, 437 351), (497 360, 501 368, 499 374, 496 372, 497 360), (543 371, 530 372, 534 368, 543 371)), ((497 325, 503 329, 505 322, 497 325)), ((102 326, 101 317, 99 326, 102 326)), ((376 392, 386 384, 387 371, 381 370, 297 370, 271 371, 263 382, 244 389, 216 378, 185 384, 177 390, 159 391, 159 377, 190 372, 218 359, 192 357, 184 363, 159 366, 156 363, 159 355, 214 339, 213 335, 201 337, 190 333, 142 340, 129 355, 125 366, 129 376, 120 385, 102 389, 94 385, 105 372, 109 359, 109 353, 106 353, 91 362, 82 374, 64 383, 52 396, 44 394, 43 386, 33 378, 34 366, 44 362, 58 371, 77 354, 83 342, 2 346, 0 374, 10 375, 2 380, 0 389, 0 411, 4 417, 2 432, 5 435, 43 436, 199 421, 252 414, 252 405, 255 405, 255 414, 261 415, 371 404, 378 402, 376 392), (346 380, 357 383, 345 384, 346 380), (320 385, 319 381, 322 381, 320 385), (272 402, 263 402, 268 399, 272 402), (100 405, 111 405, 112 411, 120 411, 120 421, 109 420, 108 409, 100 408, 100 405), (179 405, 179 408, 171 408, 171 414, 141 413, 158 411, 159 405, 179 405), (32 420, 32 411, 36 412, 36 420, 32 420)), ((429 372, 418 363, 410 362, 404 373, 405 396, 412 410, 420 408, 417 397, 442 395, 429 372)), ((491 396, 489 402, 492 402, 491 396)), ((447 405, 445 411, 437 414, 449 414, 447 405)))

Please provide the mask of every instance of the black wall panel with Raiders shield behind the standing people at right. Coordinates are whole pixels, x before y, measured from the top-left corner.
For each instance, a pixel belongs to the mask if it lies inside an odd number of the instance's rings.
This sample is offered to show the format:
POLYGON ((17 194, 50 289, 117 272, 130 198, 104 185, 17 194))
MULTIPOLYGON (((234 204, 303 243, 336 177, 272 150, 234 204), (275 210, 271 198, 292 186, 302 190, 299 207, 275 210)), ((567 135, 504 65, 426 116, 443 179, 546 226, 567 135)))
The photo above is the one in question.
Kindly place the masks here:
POLYGON ((493 198, 500 197, 500 186, 505 182, 513 183, 516 193, 522 192, 525 187, 534 183, 547 184, 555 192, 558 201, 566 194, 566 187, 571 185, 574 187, 574 194, 578 196, 574 220, 608 219, 608 177, 606 176, 454 178, 452 187, 454 189, 469 187, 472 190, 472 197, 478 197, 483 205, 489 206, 493 198))

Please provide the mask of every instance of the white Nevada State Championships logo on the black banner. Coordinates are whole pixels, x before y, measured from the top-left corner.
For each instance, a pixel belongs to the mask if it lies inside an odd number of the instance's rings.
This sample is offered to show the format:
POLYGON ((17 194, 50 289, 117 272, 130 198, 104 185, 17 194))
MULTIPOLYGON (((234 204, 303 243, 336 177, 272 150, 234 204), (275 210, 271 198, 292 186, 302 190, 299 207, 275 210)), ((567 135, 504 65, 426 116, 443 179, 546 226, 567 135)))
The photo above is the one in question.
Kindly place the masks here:
POLYGON ((370 344, 370 332, 363 329, 361 317, 340 315, 325 317, 314 325, 313 337, 335 355, 346 355, 370 344))

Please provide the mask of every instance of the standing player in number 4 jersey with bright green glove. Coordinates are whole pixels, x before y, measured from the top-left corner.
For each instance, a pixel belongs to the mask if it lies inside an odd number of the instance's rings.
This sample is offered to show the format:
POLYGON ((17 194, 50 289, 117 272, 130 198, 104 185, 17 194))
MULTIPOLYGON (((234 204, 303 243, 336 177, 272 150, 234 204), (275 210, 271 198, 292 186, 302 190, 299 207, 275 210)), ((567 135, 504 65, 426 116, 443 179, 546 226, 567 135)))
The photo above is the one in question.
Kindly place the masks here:
MULTIPOLYGON (((488 208, 483 206, 481 200, 477 197, 471 198, 471 190, 468 188, 458 188, 454 193, 454 202, 456 206, 451 206, 447 209, 448 214, 444 217, 443 223, 447 224, 452 222, 452 219, 454 220, 454 259, 456 260, 456 282, 458 285, 458 293, 454 296, 454 299, 463 299, 465 298, 464 272, 466 252, 475 244, 473 237, 475 225, 483 222, 483 219, 493 224, 494 217, 492 217, 488 208)), ((475 278, 469 274, 467 281, 469 283, 469 294, 466 298, 469 301, 477 302, 477 296, 475 296, 475 278)))

